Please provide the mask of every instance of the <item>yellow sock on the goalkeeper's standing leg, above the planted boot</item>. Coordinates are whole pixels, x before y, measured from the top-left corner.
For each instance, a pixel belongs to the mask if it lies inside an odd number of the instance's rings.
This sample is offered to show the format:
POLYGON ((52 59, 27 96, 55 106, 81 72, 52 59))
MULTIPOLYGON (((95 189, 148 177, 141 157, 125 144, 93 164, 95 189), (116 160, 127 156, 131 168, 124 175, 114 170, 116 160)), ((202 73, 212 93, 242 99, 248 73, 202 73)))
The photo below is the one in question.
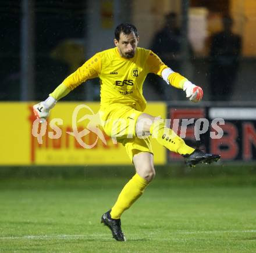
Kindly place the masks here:
POLYGON ((141 178, 141 176, 136 173, 120 192, 118 200, 111 209, 111 218, 120 219, 123 212, 143 194, 148 183, 147 180, 141 178))

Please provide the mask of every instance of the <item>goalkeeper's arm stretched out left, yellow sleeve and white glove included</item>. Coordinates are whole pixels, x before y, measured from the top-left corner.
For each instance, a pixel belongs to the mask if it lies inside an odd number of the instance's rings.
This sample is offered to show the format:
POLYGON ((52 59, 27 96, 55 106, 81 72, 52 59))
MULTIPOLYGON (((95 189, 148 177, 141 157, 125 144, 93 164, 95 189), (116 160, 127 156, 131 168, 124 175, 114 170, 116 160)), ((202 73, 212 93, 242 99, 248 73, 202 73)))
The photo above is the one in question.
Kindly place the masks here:
POLYGON ((87 79, 98 77, 100 71, 101 59, 100 56, 96 54, 74 73, 65 78, 62 84, 60 84, 54 92, 49 94, 46 100, 33 106, 35 116, 41 118, 42 121, 45 120, 49 115, 49 111, 55 106, 59 99, 62 99, 62 97, 66 96, 87 79))

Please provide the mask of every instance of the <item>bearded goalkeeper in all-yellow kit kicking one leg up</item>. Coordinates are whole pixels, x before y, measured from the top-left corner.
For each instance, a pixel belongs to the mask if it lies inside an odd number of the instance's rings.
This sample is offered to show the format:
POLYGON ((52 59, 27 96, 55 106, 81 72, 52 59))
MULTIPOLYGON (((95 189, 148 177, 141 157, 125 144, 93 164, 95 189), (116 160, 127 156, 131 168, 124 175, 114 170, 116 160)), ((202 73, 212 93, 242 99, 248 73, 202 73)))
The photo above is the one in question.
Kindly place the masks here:
POLYGON ((136 174, 120 192, 116 203, 105 214, 101 222, 111 229, 113 237, 125 241, 120 216, 136 201, 155 176, 152 135, 170 151, 182 155, 189 165, 199 162, 217 161, 220 156, 207 154, 186 145, 160 118, 143 113, 146 101, 143 96, 143 82, 148 73, 162 77, 168 84, 183 89, 191 102, 200 102, 202 89, 171 68, 151 50, 138 48, 138 31, 132 24, 120 24, 115 30, 115 48, 96 53, 73 74, 69 75, 49 97, 35 104, 37 118, 47 118, 55 103, 87 79, 99 77, 101 84, 100 115, 102 127, 107 135, 113 135, 125 146, 136 174), (127 122, 125 127, 115 125, 117 120, 127 122), (142 133, 141 133, 142 132, 142 133))

